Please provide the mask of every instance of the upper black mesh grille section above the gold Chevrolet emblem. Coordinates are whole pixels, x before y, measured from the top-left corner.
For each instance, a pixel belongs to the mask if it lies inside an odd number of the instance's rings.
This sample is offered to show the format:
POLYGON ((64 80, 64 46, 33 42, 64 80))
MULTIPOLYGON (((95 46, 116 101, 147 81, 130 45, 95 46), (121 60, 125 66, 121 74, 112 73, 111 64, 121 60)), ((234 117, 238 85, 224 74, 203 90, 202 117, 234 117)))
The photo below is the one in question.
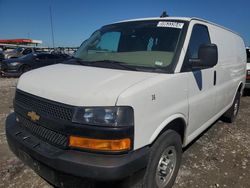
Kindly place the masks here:
POLYGON ((74 112, 72 106, 49 101, 19 90, 16 91, 15 103, 22 108, 33 110, 38 114, 65 121, 71 121, 74 112))

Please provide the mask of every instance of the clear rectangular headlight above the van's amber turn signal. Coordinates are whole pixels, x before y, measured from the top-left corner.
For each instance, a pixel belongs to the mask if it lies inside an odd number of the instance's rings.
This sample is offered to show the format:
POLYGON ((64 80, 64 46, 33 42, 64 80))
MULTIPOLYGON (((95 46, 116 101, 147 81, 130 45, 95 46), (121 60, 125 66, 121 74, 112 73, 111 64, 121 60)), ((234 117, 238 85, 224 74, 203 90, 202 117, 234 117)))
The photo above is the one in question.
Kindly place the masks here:
POLYGON ((80 107, 77 108, 73 122, 98 126, 133 126, 132 107, 80 107))

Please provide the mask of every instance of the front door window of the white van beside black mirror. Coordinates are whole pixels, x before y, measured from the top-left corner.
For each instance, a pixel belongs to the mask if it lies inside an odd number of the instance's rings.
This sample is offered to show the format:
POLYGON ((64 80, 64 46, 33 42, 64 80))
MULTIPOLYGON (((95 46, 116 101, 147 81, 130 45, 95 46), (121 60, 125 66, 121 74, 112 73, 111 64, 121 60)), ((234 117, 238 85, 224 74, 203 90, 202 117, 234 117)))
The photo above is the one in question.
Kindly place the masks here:
POLYGON ((190 37, 187 53, 185 56, 183 71, 189 69, 189 59, 197 59, 199 47, 203 44, 211 44, 210 36, 207 26, 196 24, 193 27, 193 31, 190 37))

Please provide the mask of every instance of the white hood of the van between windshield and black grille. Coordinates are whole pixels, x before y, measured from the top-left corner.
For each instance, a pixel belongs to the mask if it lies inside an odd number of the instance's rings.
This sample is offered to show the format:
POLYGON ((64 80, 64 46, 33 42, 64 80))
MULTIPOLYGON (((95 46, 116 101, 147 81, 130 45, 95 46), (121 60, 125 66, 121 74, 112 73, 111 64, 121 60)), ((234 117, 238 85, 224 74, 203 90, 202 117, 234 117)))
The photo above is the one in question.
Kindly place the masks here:
POLYGON ((56 64, 23 74, 17 88, 74 106, 114 106, 119 95, 154 73, 56 64))

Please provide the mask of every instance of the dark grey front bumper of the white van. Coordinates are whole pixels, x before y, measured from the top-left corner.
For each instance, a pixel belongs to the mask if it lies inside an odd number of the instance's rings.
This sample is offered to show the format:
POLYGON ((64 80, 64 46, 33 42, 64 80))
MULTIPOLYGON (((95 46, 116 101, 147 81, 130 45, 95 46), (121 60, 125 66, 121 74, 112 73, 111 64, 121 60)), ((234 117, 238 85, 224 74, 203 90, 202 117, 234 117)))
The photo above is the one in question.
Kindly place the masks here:
POLYGON ((101 181, 125 178, 146 167, 150 151, 144 147, 108 155, 59 149, 30 134, 16 122, 14 113, 6 119, 6 137, 15 155, 55 186, 79 177, 101 181))

